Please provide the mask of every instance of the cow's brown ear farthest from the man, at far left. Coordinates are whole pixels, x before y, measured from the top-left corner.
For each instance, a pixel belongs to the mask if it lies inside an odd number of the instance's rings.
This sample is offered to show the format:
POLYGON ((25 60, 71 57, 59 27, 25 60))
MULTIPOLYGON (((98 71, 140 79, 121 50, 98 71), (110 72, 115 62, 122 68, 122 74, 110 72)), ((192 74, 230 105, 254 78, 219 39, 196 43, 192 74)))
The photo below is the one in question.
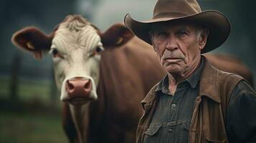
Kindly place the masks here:
POLYGON ((35 27, 26 27, 16 31, 11 41, 19 48, 34 54, 36 59, 41 59, 42 52, 50 49, 52 37, 53 34, 46 35, 35 27))

